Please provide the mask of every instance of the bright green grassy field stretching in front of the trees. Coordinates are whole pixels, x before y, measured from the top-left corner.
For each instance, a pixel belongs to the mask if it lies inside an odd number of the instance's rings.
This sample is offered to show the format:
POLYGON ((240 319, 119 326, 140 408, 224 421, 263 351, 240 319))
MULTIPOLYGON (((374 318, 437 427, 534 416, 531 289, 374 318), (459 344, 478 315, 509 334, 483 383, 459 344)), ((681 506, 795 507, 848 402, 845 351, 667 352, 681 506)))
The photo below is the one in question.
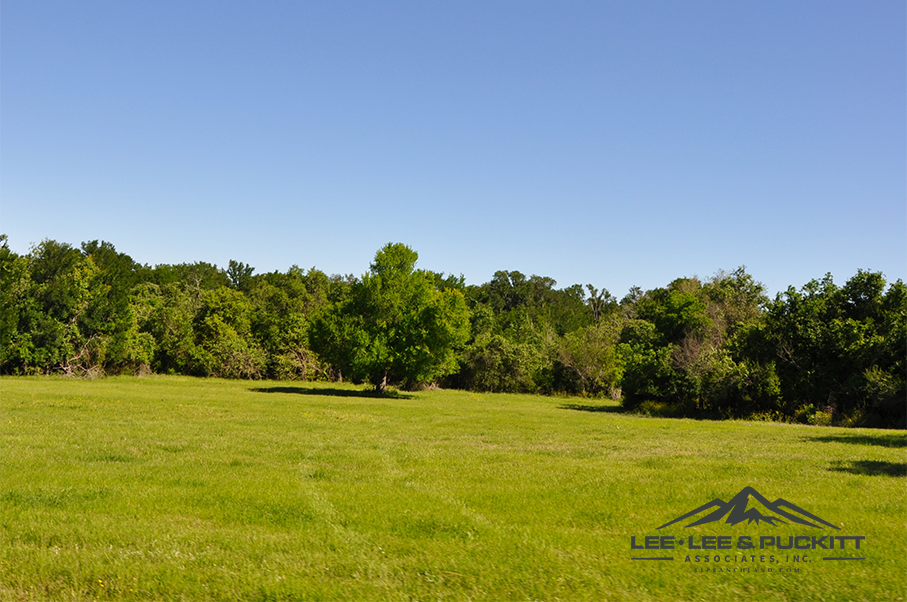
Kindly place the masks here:
POLYGON ((576 398, 375 398, 337 384, 158 376, 4 378, 0 400, 3 600, 907 594, 903 432, 646 418, 576 398), (746 486, 840 530, 657 530, 746 486), (688 544, 631 549, 631 537, 655 535, 865 539, 859 550, 849 540, 844 550, 709 552, 708 563, 692 562, 688 544), (775 563, 760 560, 772 554, 775 563))

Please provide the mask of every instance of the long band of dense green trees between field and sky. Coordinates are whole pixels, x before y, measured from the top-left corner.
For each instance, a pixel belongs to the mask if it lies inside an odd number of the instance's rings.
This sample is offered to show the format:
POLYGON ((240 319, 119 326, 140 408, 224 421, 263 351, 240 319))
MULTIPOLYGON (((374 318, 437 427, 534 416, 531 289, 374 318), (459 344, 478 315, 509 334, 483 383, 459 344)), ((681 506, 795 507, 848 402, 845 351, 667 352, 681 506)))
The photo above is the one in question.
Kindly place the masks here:
POLYGON ((744 268, 632 288, 499 271, 481 285, 388 244, 360 277, 141 265, 108 242, 0 237, 0 372, 347 380, 607 396, 659 415, 905 427, 907 287, 859 271, 770 299, 744 268))

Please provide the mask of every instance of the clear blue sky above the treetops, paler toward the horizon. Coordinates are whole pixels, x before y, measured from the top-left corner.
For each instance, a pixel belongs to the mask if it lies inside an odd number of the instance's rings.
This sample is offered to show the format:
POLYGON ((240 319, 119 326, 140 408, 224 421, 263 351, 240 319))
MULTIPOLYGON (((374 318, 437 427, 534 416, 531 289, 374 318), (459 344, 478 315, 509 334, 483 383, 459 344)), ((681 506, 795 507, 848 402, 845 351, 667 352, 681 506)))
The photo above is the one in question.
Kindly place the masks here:
POLYGON ((902 0, 4 0, 0 28, 20 253, 907 279, 902 0))

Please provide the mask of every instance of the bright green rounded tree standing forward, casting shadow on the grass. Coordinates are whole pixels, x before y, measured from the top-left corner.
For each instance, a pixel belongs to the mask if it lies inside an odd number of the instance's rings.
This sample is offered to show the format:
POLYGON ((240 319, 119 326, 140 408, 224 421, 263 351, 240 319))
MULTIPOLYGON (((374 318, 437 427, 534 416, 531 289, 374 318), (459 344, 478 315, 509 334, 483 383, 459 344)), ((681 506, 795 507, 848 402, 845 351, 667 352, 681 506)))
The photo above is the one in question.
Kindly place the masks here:
POLYGON ((453 372, 469 336, 463 294, 438 290, 432 274, 415 269, 417 259, 405 245, 384 246, 313 333, 323 358, 380 392, 388 383, 414 386, 453 372))

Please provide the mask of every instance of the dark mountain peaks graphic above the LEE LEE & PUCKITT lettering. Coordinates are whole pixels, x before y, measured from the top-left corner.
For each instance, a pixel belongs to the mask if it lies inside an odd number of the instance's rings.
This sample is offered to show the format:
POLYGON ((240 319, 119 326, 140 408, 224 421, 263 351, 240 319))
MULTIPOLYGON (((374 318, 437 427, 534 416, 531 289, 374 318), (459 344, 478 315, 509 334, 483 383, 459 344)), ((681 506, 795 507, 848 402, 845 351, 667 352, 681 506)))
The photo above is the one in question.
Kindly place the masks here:
POLYGON ((687 512, 683 516, 677 517, 671 522, 665 523, 658 528, 664 529, 669 525, 673 525, 674 523, 696 516, 697 514, 705 512, 706 510, 711 510, 712 508, 714 508, 712 512, 709 512, 699 520, 692 522, 686 526, 695 527, 697 525, 704 525, 706 523, 714 523, 721 520, 726 515, 727 520, 725 520, 724 522, 729 525, 736 525, 738 523, 742 523, 743 521, 746 521, 747 524, 750 524, 755 521, 757 525, 764 522, 775 526, 777 523, 787 523, 788 521, 790 521, 797 523, 798 525, 806 525, 808 527, 815 527, 817 529, 821 529, 821 525, 831 527, 832 529, 838 528, 830 522, 822 520, 815 514, 810 514, 803 508, 791 504, 787 500, 778 498, 774 502, 770 502, 765 496, 763 496, 752 487, 744 487, 740 490, 740 493, 732 497, 731 501, 729 502, 725 502, 724 500, 716 498, 708 504, 703 504, 699 508, 687 512), (762 506, 761 510, 759 508, 760 505, 762 506), (768 511, 768 513, 766 513, 766 511, 768 511))

